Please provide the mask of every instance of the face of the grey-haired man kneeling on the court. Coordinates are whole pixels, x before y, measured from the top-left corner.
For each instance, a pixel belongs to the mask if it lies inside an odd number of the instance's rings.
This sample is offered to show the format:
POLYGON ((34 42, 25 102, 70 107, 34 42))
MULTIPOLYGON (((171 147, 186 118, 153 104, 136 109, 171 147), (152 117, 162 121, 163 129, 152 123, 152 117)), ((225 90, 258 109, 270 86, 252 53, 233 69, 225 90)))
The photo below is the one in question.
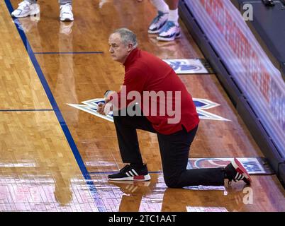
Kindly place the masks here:
POLYGON ((111 53, 113 61, 118 61, 123 64, 131 51, 131 44, 125 46, 121 40, 121 35, 114 33, 109 37, 109 46, 109 52, 111 53))

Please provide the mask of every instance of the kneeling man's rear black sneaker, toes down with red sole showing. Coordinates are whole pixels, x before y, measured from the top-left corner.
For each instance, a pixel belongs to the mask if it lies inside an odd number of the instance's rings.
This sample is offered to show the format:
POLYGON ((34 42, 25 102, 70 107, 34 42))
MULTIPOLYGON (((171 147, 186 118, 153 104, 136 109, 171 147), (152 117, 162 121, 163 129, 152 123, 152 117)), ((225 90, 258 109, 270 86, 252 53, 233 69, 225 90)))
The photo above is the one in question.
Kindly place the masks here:
POLYGON ((234 158, 233 162, 225 167, 225 178, 228 179, 229 184, 231 184, 232 180, 234 182, 243 180, 247 185, 250 185, 252 182, 250 174, 248 174, 245 167, 243 167, 240 161, 236 158, 234 158))

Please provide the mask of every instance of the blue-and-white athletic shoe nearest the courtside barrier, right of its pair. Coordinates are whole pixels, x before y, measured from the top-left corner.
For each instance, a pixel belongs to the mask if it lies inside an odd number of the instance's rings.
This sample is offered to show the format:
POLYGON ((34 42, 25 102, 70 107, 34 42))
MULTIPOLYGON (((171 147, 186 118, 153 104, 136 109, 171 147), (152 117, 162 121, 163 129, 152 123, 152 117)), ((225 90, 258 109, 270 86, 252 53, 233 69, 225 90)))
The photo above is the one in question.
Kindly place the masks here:
POLYGON ((168 20, 163 26, 162 31, 157 36, 157 40, 160 41, 172 41, 180 37, 180 27, 176 25, 173 21, 168 20))

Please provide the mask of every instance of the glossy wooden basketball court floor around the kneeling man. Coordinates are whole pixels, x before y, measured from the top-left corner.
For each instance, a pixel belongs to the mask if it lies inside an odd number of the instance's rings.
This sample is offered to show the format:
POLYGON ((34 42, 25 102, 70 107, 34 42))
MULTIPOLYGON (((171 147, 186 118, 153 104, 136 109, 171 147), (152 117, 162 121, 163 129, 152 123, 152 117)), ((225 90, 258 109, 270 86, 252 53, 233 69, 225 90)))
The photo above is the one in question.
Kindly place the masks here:
MULTIPOLYGON (((75 0, 74 22, 60 23, 57 0, 38 1, 40 20, 15 20, 18 0, 0 1, 0 211, 284 211, 276 175, 243 182, 168 189, 155 134, 139 131, 150 182, 114 184, 121 167, 111 121, 67 105, 118 90, 123 66, 108 54, 108 35, 130 28, 139 46, 162 59, 203 58, 184 24, 181 39, 147 35, 155 16, 148 1, 75 0), (11 3, 11 4, 10 4, 11 3), (21 23, 18 31, 16 23, 21 23)), ((208 112, 230 121, 201 120, 190 157, 262 157, 214 74, 180 76, 191 95, 220 104, 208 112)))

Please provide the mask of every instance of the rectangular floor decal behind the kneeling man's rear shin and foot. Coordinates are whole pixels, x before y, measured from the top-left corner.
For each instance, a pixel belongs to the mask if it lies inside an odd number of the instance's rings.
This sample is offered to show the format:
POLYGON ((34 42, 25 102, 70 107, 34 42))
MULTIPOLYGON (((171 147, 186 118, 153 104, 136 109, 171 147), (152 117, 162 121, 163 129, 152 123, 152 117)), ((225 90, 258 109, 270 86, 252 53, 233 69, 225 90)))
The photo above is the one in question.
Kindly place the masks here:
MULTIPOLYGON (((249 174, 274 174, 264 157, 237 157, 249 174)), ((187 169, 225 167, 233 157, 189 158, 187 169)))

